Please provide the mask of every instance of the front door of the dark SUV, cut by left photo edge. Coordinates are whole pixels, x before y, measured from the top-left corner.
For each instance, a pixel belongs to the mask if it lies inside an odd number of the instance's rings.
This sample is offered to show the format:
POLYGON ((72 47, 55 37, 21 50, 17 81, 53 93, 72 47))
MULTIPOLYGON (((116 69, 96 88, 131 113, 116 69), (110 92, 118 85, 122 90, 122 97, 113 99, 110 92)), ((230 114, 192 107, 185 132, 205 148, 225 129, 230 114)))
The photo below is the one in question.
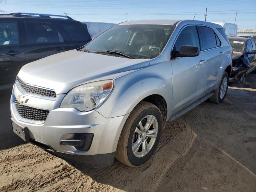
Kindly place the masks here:
POLYGON ((0 89, 14 84, 20 68, 26 64, 19 22, 0 20, 0 89))

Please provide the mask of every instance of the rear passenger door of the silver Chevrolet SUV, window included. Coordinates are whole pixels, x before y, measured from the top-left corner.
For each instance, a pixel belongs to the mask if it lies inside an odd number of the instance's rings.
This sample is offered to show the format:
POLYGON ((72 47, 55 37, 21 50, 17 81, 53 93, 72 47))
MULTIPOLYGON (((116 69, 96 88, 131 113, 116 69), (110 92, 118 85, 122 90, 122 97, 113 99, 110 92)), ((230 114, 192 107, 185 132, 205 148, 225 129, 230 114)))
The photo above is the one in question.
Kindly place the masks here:
POLYGON ((202 59, 206 64, 204 94, 208 94, 214 89, 217 83, 218 72, 220 71, 222 57, 224 56, 221 42, 212 28, 198 26, 203 46, 202 59))

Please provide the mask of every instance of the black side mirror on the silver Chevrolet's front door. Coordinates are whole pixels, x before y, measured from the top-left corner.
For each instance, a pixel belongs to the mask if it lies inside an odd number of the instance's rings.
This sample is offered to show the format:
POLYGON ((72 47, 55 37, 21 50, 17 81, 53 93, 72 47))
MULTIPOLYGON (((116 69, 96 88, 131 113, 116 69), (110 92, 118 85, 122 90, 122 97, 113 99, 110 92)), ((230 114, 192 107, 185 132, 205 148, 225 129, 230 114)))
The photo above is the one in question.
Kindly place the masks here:
POLYGON ((173 52, 174 57, 196 57, 199 55, 198 47, 191 45, 180 46, 178 52, 173 52))

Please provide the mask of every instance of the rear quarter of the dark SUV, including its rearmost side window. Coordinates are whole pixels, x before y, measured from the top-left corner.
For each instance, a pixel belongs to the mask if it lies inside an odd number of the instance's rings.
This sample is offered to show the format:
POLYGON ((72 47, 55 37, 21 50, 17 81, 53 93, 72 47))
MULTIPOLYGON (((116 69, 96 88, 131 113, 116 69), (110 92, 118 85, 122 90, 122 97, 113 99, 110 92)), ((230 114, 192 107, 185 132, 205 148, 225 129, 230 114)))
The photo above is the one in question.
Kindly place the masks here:
POLYGON ((84 46, 92 40, 87 29, 80 22, 66 21, 55 23, 55 25, 63 33, 64 39, 68 43, 68 50, 84 46))

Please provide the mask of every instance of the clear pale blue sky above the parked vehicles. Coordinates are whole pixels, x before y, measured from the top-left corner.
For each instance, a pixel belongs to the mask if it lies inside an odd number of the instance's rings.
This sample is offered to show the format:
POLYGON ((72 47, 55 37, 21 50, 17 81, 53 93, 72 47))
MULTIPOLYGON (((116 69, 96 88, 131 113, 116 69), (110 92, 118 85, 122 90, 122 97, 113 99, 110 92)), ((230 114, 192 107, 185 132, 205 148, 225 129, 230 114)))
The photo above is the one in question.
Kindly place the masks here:
POLYGON ((68 13, 75 20, 120 23, 140 19, 193 19, 256 29, 256 0, 0 0, 7 13, 68 13))

